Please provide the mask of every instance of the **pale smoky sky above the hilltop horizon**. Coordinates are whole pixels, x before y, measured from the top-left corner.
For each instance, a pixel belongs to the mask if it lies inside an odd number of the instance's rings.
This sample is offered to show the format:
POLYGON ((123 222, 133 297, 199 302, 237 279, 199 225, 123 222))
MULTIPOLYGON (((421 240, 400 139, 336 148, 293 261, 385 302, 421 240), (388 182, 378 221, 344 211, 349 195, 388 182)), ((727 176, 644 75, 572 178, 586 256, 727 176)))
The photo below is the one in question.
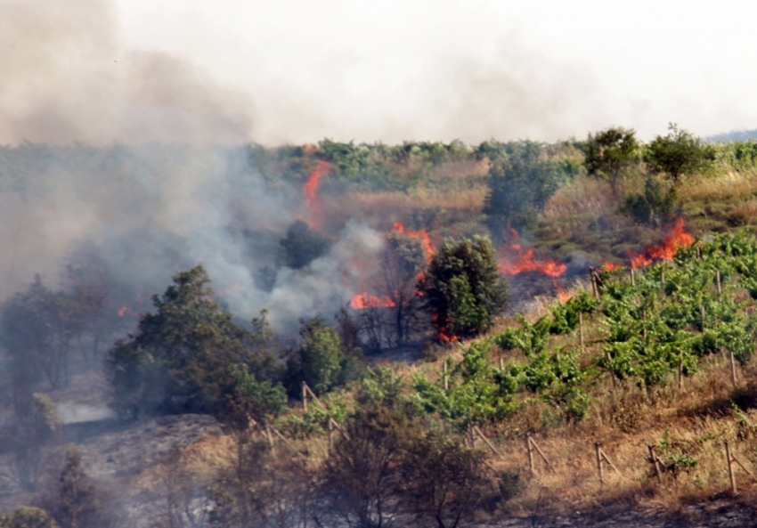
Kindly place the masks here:
POLYGON ((736 0, 0 0, 0 143, 753 129, 754 15, 736 0))

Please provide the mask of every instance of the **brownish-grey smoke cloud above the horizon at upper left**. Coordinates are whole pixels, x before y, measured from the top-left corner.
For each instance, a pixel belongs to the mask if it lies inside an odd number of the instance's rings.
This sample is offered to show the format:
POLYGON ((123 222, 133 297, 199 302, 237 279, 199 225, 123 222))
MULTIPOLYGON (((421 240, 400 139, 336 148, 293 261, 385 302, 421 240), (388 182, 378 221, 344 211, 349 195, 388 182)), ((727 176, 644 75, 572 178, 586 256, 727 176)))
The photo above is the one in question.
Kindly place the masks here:
POLYGON ((232 144, 248 96, 191 62, 128 50, 105 0, 0 2, 0 144, 232 144))

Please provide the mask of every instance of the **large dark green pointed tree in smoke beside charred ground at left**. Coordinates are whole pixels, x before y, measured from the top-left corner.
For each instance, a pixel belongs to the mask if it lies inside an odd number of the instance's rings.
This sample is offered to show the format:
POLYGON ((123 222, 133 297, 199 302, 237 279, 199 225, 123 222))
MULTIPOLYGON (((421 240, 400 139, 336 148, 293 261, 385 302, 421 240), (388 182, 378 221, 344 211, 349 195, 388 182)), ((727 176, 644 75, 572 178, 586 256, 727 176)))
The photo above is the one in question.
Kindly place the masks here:
POLYGON ((258 379, 275 377, 265 313, 252 331, 241 329, 213 300, 201 265, 173 281, 152 296, 156 312, 142 314, 136 333, 108 353, 113 406, 122 415, 216 412, 234 365, 247 365, 258 379))

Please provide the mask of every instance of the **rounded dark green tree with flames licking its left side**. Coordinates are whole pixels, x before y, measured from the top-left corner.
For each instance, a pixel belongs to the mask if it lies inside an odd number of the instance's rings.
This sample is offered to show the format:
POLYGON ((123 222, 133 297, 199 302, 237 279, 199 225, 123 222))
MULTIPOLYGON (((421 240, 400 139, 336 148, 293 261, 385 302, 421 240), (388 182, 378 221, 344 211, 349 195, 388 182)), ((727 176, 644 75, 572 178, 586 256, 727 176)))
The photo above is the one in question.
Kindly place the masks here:
POLYGON ((442 336, 484 332, 508 302, 508 285, 488 239, 446 240, 431 260, 419 288, 442 336))

